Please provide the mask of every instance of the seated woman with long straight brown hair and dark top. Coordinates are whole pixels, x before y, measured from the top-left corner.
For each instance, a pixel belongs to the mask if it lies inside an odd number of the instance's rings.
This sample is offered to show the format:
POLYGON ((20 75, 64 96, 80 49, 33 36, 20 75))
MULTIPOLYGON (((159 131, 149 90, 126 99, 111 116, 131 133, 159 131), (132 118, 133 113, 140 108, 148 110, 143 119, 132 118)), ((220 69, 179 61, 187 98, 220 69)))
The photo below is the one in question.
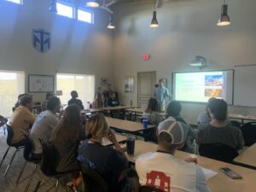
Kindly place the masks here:
POLYGON ((82 183, 79 174, 81 170, 77 160, 79 143, 84 139, 82 116, 78 105, 69 105, 61 118, 60 123, 55 127, 51 142, 56 149, 57 167, 56 172, 72 172, 67 186, 78 191, 77 187, 82 183))

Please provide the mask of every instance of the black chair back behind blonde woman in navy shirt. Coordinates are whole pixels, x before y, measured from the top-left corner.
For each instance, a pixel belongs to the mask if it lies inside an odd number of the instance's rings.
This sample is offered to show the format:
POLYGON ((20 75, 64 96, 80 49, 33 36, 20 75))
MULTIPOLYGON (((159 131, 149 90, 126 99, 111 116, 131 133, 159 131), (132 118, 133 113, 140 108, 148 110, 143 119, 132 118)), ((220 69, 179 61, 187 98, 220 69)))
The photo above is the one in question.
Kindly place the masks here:
POLYGON ((108 184, 104 178, 89 166, 81 163, 83 177, 83 191, 108 192, 108 184))

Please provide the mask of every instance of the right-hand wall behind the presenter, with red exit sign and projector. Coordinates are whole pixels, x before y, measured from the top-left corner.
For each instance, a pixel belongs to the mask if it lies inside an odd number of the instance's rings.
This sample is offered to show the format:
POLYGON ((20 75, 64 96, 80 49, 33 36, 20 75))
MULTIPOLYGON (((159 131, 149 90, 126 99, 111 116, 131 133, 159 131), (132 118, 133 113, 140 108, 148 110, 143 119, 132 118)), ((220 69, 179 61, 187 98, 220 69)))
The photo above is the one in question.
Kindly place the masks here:
MULTIPOLYGON (((231 26, 216 26, 222 0, 180 0, 164 2, 157 9, 158 28, 150 28, 153 3, 119 6, 115 9, 113 40, 115 88, 122 102, 137 103, 137 72, 157 71, 157 79, 167 78, 171 89, 172 72, 195 70, 188 66, 195 55, 207 58, 212 69, 231 69, 256 63, 256 1, 229 1, 231 26), (143 61, 150 54, 150 61, 143 61), (134 75, 135 92, 124 92, 125 75, 134 75)), ((196 123, 204 104, 183 103, 183 116, 196 123)), ((230 107, 230 112, 256 114, 256 108, 230 107)))

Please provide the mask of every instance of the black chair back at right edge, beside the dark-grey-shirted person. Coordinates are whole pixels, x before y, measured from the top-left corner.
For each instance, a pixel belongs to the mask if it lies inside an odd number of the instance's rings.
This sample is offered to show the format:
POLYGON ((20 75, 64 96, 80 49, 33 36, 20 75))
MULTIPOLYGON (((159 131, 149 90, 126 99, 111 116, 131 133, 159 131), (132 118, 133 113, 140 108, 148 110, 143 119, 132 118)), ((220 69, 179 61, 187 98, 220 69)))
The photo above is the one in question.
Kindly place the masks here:
POLYGON ((245 146, 252 146, 256 143, 256 122, 250 122, 242 125, 241 133, 245 141, 245 146))

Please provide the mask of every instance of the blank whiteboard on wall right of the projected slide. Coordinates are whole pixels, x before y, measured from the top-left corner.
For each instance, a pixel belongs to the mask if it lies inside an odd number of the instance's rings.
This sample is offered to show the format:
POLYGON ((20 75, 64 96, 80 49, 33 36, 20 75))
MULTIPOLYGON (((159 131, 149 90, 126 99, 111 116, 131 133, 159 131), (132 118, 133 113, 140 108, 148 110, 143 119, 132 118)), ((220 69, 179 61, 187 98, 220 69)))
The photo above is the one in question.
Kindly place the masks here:
POLYGON ((234 105, 256 107, 256 65, 235 67, 234 105))

